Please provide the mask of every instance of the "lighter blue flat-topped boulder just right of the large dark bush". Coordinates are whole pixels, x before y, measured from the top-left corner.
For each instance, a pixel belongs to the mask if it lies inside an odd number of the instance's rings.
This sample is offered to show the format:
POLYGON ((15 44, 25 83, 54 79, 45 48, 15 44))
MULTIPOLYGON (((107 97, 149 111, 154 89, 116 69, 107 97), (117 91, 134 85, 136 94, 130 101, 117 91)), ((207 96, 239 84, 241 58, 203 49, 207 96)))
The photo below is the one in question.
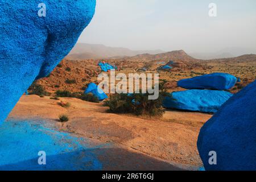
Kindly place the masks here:
POLYGON ((220 90, 185 90, 173 92, 163 101, 168 109, 216 113, 233 94, 220 90))

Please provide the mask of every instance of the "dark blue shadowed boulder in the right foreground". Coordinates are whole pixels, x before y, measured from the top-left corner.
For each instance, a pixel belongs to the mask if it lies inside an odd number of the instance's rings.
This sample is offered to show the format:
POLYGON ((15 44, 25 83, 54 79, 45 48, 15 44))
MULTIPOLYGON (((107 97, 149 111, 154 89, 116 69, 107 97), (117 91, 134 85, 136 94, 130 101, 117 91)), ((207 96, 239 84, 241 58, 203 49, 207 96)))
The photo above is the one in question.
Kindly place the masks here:
POLYGON ((205 123, 197 148, 207 170, 256 170, 256 81, 205 123), (217 165, 209 165, 209 151, 216 151, 217 165))

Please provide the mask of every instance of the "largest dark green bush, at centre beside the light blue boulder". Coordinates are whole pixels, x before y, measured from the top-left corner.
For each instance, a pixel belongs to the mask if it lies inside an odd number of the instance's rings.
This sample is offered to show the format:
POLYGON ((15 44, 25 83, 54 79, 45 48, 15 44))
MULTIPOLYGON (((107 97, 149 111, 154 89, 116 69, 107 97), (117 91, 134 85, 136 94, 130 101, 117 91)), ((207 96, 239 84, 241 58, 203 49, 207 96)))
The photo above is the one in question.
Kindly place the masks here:
POLYGON ((113 94, 104 105, 109 107, 110 113, 162 116, 165 111, 162 103, 168 94, 163 85, 164 82, 159 84, 159 97, 156 100, 148 100, 149 93, 113 94))

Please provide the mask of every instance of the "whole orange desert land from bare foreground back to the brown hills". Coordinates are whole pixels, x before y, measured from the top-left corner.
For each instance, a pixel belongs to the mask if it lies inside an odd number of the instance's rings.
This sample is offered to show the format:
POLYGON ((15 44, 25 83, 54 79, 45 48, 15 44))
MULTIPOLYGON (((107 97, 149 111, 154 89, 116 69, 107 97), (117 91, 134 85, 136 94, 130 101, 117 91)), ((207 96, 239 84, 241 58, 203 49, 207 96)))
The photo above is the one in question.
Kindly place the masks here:
POLYGON ((185 90, 177 86, 179 80, 220 72, 240 79, 228 91, 235 94, 253 82, 256 75, 256 55, 213 60, 194 59, 184 51, 105 59, 77 56, 67 56, 51 74, 36 80, 34 84, 44 94, 35 95, 30 88, 30 94, 20 98, 8 120, 46 121, 47 127, 56 131, 89 139, 93 146, 107 146, 103 153, 93 151, 105 170, 199 170, 203 163, 197 151, 197 137, 213 113, 167 109, 162 117, 114 114, 108 112, 103 101, 56 96, 58 90, 80 93, 90 82, 97 83, 101 61, 115 65, 116 73, 159 73, 169 93, 185 90), (159 69, 170 61, 174 62, 172 69, 159 69), (61 114, 68 115, 69 120, 60 122, 61 114))

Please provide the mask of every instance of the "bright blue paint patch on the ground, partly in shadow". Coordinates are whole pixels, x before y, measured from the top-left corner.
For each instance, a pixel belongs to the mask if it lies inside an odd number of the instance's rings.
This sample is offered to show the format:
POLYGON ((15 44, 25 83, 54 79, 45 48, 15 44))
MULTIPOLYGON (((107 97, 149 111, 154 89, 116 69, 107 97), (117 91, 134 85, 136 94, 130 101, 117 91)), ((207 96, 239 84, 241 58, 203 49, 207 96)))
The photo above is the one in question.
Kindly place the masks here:
POLYGON ((9 121, 0 127, 0 170, 101 170, 84 138, 44 127, 44 122, 9 121), (46 165, 38 152, 46 152, 46 165))

